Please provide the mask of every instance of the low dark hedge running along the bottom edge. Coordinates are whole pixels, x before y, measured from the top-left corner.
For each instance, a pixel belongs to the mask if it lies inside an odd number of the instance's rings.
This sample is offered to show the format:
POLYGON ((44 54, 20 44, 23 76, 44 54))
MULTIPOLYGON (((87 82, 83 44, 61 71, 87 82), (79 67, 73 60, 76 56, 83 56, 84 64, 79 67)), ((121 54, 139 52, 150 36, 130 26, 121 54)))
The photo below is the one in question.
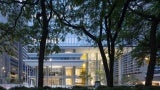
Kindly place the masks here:
MULTIPOLYGON (((91 89, 89 87, 83 86, 73 86, 72 89, 68 88, 51 88, 51 87, 43 87, 43 88, 27 88, 27 87, 13 87, 9 90, 159 90, 159 86, 150 86, 144 87, 144 85, 136 85, 136 86, 115 86, 115 87, 107 87, 107 86, 99 86, 97 89, 91 89)), ((0 90, 6 90, 3 87, 0 90)))

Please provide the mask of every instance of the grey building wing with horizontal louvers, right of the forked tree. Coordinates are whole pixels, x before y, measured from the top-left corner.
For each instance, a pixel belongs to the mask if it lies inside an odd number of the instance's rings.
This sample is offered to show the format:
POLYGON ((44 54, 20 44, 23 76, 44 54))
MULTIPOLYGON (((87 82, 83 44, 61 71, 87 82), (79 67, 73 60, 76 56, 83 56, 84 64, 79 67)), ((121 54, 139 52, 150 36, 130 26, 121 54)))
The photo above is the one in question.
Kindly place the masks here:
MULTIPOLYGON (((131 47, 125 48, 121 58, 115 62, 115 83, 119 85, 145 84, 149 58, 144 58, 143 64, 138 65, 137 60, 131 56, 132 49, 131 47)), ((158 60, 156 61, 152 84, 160 86, 160 62, 158 60)))

